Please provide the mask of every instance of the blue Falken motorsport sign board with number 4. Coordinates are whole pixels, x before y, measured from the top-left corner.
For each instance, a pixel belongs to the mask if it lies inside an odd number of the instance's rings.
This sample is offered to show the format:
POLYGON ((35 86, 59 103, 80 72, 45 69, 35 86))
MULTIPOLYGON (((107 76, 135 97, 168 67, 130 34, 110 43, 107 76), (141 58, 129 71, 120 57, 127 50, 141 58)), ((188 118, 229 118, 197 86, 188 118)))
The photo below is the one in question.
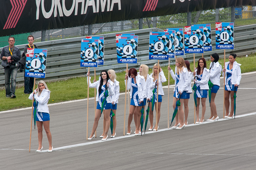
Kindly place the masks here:
POLYGON ((117 50, 118 63, 137 63, 138 57, 138 36, 119 35, 117 50))

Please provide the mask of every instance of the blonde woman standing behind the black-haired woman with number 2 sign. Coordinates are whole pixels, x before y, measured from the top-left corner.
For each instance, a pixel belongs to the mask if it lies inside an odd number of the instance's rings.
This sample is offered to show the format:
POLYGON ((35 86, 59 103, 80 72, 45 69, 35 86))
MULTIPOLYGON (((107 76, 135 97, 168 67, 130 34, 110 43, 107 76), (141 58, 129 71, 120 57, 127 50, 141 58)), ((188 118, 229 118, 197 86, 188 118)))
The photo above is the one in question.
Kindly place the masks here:
MULTIPOLYGON (((115 71, 112 69, 108 70, 108 74, 109 74, 109 78, 110 80, 114 83, 114 94, 111 96, 112 97, 112 111, 115 114, 112 118, 113 118, 113 136, 111 135, 111 138, 114 138, 116 135, 115 132, 115 128, 116 128, 116 108, 117 108, 117 103, 118 103, 118 99, 119 99, 119 81, 116 80, 116 75, 115 75, 115 71)), ((100 138, 103 138, 104 133, 105 133, 105 126, 106 126, 106 120, 103 120, 103 133, 100 136, 100 138)))

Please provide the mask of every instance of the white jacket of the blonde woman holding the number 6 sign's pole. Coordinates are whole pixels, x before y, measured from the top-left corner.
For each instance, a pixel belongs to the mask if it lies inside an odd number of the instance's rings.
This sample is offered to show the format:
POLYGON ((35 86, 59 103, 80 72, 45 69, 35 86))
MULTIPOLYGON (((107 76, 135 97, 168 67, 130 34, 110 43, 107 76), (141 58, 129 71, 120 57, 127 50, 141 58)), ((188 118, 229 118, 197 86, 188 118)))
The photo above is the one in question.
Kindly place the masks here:
MULTIPOLYGON (((158 83, 158 95, 162 95, 163 96, 164 95, 164 90, 163 90, 162 83, 167 81, 165 76, 164 76, 163 70, 161 72, 159 72, 159 76, 158 77, 160 79, 160 81, 158 81, 159 82, 158 83)), ((156 84, 156 82, 154 82, 153 73, 151 73, 149 75, 149 78, 150 78, 150 84, 149 84, 149 86, 147 86, 147 88, 150 89, 149 90, 150 98, 152 98, 153 97, 153 89, 155 88, 155 84, 156 84)), ((156 88, 157 88, 157 86, 156 86, 156 88)))

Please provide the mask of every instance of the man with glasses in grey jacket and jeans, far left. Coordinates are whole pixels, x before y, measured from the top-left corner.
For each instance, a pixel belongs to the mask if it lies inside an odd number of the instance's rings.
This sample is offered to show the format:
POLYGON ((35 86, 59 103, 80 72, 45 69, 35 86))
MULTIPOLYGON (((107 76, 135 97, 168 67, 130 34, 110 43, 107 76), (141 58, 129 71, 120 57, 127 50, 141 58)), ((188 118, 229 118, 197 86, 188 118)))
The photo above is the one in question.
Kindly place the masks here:
POLYGON ((1 65, 4 67, 5 76, 5 95, 7 98, 16 98, 15 87, 16 87, 16 76, 17 67, 20 60, 20 50, 14 46, 14 37, 8 38, 9 45, 5 46, 1 52, 0 59, 3 60, 1 65), (11 78, 12 76, 12 78, 11 78), (11 87, 10 87, 11 78, 11 87))

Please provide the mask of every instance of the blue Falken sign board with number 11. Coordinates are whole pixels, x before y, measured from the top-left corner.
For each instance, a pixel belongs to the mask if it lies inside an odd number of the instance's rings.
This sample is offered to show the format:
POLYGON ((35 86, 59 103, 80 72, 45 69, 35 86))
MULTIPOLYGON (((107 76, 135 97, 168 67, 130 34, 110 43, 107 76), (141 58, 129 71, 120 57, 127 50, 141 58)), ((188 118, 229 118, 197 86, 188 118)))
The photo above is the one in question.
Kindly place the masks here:
POLYGON ((234 23, 216 22, 216 49, 234 49, 234 23))

